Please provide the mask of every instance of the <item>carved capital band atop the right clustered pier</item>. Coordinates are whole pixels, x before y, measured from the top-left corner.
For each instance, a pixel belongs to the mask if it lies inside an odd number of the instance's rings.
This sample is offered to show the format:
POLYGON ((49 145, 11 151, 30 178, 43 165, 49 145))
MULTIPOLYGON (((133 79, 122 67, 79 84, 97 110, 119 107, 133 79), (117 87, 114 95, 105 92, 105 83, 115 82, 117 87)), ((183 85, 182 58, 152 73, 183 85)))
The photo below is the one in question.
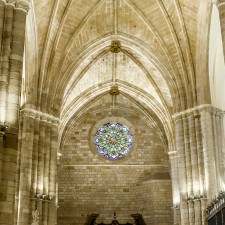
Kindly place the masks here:
POLYGON ((175 113, 172 117, 174 120, 179 120, 183 117, 188 117, 188 116, 194 116, 194 117, 200 117, 200 114, 202 112, 209 112, 212 115, 217 115, 220 116, 221 118, 224 116, 224 111, 221 109, 218 109, 210 104, 204 104, 204 105, 199 105, 191 109, 187 109, 185 111, 175 113))

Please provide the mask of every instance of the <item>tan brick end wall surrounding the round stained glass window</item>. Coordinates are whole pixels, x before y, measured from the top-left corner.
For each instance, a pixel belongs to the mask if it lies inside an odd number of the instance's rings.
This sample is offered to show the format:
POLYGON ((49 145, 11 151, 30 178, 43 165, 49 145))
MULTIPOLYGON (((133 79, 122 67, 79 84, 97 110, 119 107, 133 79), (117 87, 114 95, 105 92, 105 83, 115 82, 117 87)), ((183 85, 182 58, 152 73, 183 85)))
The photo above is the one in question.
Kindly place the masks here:
POLYGON ((58 224, 83 225, 86 216, 97 222, 134 222, 141 213, 147 224, 172 224, 172 191, 167 152, 158 133, 144 118, 126 111, 90 113, 67 134, 59 168, 58 224), (100 157, 90 134, 105 117, 123 117, 135 127, 136 146, 118 161, 100 157))

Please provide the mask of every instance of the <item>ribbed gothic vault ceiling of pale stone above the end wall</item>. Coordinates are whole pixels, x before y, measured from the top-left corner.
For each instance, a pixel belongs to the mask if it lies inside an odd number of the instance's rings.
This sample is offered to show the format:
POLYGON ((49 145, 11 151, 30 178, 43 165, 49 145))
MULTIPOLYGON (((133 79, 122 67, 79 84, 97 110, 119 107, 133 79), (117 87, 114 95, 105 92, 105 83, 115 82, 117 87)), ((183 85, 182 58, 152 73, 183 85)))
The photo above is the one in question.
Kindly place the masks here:
POLYGON ((33 0, 23 103, 66 124, 117 84, 170 124, 197 101, 198 49, 207 42, 198 34, 209 11, 209 0, 33 0), (119 53, 110 51, 115 40, 119 53))

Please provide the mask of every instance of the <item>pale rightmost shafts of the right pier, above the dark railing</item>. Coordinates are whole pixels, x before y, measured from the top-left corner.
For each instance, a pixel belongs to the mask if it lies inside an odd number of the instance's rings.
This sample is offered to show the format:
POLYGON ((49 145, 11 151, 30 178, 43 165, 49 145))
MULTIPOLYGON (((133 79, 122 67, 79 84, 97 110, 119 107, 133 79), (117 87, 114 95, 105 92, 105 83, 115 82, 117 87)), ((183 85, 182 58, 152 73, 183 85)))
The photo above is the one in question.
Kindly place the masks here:
POLYGON ((224 112, 212 106, 204 106, 199 109, 201 115, 202 146, 205 171, 205 189, 208 199, 212 199, 223 191, 224 166, 223 166, 223 142, 224 112))

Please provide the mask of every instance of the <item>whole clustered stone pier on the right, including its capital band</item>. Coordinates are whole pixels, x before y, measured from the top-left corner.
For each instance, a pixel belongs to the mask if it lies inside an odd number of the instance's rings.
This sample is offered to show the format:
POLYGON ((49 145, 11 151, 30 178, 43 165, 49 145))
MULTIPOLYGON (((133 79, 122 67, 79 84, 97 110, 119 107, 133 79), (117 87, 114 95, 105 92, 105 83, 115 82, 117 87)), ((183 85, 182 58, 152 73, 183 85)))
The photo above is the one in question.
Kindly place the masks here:
POLYGON ((223 115, 200 105, 173 116, 182 225, 205 224, 207 199, 224 191, 223 115))

